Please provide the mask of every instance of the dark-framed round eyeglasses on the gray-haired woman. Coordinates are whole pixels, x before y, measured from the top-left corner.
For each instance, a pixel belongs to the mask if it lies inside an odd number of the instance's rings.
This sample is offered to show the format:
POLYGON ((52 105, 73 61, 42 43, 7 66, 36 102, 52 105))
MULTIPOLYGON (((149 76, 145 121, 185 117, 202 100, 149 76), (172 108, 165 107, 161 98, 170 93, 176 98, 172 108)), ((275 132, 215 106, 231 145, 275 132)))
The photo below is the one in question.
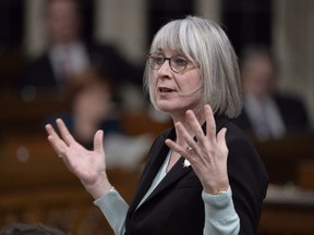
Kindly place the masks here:
POLYGON ((182 55, 173 55, 171 58, 166 58, 164 54, 149 53, 147 55, 148 64, 153 70, 159 70, 166 60, 169 61, 169 66, 174 73, 182 73, 186 66, 189 61, 182 55))

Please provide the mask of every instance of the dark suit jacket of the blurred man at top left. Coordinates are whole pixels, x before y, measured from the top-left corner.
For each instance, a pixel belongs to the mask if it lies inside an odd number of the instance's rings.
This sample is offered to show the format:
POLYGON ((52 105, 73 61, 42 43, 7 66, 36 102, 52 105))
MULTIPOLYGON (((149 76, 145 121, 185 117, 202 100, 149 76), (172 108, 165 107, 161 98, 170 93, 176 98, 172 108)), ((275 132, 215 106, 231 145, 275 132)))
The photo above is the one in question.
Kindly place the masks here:
MULTIPOLYGON (((112 47, 104 45, 86 45, 92 65, 104 70, 114 84, 131 82, 142 83, 142 71, 128 63, 112 47)), ((26 64, 19 87, 32 85, 35 88, 58 88, 59 83, 52 70, 48 52, 26 64)))

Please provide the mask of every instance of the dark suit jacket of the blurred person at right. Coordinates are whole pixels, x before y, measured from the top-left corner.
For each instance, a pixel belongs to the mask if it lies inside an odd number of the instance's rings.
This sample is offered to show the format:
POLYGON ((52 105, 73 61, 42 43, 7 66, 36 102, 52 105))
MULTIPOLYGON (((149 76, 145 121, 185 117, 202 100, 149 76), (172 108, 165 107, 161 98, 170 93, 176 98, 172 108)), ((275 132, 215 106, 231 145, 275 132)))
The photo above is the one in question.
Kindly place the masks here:
MULTIPOLYGON (((274 95, 273 98, 288 133, 311 131, 306 109, 299 99, 282 95, 274 95)), ((249 119, 245 107, 233 122, 244 132, 253 135, 253 124, 249 119)))

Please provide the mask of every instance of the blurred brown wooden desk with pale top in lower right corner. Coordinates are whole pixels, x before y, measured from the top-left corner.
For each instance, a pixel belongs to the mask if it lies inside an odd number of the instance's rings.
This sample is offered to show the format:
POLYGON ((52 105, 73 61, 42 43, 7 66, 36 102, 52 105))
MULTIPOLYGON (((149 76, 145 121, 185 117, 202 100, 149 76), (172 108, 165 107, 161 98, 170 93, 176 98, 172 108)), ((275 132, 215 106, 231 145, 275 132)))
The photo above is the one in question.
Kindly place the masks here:
POLYGON ((314 191, 270 185, 258 235, 313 235, 314 191))

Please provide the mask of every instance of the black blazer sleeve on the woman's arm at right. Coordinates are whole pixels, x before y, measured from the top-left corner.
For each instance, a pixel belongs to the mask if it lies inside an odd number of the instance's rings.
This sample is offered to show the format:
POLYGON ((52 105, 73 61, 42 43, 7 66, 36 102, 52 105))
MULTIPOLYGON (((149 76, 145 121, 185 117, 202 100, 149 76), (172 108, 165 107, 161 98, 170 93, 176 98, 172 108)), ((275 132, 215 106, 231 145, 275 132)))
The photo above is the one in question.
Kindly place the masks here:
POLYGON ((231 139, 227 145, 228 174, 234 209, 240 218, 239 234, 256 234, 268 176, 262 159, 245 138, 231 139))

